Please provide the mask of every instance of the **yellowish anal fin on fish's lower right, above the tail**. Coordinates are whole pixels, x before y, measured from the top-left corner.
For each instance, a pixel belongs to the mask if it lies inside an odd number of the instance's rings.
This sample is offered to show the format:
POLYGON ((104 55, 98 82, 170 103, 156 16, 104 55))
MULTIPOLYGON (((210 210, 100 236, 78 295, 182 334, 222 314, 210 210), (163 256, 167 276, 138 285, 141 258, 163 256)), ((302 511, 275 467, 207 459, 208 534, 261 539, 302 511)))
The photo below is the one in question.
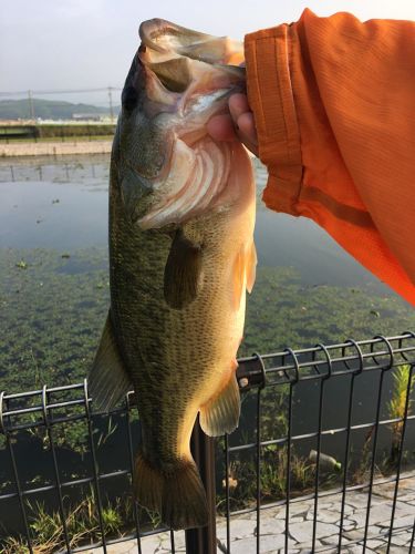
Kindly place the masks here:
POLYGON ((238 427, 240 394, 235 372, 219 394, 200 408, 200 427, 209 437, 231 433, 238 427))

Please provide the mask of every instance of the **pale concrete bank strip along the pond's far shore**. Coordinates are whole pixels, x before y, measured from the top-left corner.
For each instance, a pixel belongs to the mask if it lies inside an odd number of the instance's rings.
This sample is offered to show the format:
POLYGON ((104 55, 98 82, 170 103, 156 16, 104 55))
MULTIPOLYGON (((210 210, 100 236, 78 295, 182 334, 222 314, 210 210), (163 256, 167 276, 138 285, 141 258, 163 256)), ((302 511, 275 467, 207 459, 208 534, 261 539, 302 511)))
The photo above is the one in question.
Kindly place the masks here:
POLYGON ((62 156, 68 154, 108 154, 112 141, 51 141, 0 143, 0 157, 62 156))

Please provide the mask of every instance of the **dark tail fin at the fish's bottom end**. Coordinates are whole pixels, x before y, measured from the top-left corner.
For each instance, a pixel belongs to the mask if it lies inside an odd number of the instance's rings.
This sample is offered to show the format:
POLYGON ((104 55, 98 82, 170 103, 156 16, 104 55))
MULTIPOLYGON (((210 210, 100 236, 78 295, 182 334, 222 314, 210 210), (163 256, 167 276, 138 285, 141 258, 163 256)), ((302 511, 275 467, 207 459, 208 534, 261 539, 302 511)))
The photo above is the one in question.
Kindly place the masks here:
POLYGON ((206 493, 193 460, 165 472, 138 454, 134 490, 138 503, 157 511, 163 523, 174 530, 207 525, 206 493))

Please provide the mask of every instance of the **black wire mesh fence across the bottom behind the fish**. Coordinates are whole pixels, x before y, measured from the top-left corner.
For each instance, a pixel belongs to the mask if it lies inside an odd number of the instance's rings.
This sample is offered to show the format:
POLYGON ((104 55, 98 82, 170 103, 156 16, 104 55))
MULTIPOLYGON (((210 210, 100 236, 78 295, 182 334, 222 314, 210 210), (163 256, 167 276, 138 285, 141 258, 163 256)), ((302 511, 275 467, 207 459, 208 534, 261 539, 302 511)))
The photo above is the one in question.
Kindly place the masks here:
POLYGON ((240 359, 238 430, 194 431, 210 521, 186 533, 131 495, 133 392, 102 414, 86 380, 3 391, 0 552, 412 552, 414 365, 413 332, 240 359))

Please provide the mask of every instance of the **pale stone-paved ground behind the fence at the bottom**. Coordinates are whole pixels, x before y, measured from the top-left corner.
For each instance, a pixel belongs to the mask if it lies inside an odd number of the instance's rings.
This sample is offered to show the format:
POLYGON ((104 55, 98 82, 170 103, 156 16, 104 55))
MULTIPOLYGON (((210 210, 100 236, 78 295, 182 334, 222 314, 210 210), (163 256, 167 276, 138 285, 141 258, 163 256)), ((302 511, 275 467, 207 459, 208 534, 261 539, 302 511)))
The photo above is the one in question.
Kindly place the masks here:
MULTIPOLYGON (((396 502, 391 548, 387 538, 391 525, 392 504, 395 483, 377 484, 373 488, 371 519, 365 552, 367 554, 408 554, 414 532, 415 517, 415 476, 413 473, 401 475, 400 494, 396 502)), ((311 550, 313 533, 314 501, 304 500, 290 505, 289 554, 339 554, 339 531, 341 519, 340 493, 322 497, 317 513, 317 541, 311 550)), ((351 491, 346 495, 342 554, 361 554, 366 523, 367 491, 351 491)), ((260 554, 284 553, 286 507, 269 507, 261 512, 260 554)), ((255 554, 257 552, 257 514, 250 513, 230 521, 230 553, 255 554)), ((217 519, 217 553, 226 553, 226 521, 217 519)), ((168 533, 159 533, 142 538, 143 554, 169 554, 168 533)), ((185 533, 175 533, 175 551, 185 553, 185 533)), ((87 554, 102 554, 103 548, 86 551, 87 554)), ((136 541, 127 541, 107 546, 107 554, 135 554, 136 541)))

